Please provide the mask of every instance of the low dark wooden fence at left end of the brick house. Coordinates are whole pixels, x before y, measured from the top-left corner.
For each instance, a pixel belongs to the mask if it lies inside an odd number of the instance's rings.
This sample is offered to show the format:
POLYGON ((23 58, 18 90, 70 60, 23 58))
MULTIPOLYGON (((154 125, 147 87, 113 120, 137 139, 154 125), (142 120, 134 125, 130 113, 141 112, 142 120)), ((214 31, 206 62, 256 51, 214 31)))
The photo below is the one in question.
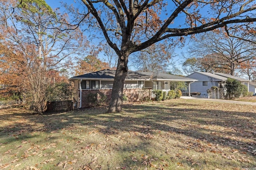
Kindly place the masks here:
POLYGON ((46 107, 46 112, 70 111, 73 109, 73 102, 72 100, 47 102, 46 107))

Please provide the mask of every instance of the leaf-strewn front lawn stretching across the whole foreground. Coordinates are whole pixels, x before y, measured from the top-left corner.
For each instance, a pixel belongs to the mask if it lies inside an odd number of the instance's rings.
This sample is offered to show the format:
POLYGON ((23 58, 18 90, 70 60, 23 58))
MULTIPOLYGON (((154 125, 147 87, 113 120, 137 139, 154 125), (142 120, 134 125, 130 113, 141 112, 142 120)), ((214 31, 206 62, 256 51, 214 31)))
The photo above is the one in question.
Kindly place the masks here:
POLYGON ((193 100, 32 115, 0 110, 0 169, 256 167, 255 106, 193 100))

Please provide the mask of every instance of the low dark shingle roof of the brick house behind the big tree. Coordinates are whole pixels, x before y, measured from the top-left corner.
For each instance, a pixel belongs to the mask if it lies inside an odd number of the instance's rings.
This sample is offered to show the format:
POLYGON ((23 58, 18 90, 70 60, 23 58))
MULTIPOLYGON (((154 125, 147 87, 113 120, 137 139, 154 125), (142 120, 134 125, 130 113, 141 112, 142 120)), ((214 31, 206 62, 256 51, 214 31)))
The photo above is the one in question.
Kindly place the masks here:
MULTIPOLYGON (((91 72, 88 74, 83 74, 70 78, 70 80, 75 79, 114 79, 116 70, 100 70, 96 72, 91 72)), ((197 81, 192 78, 174 76, 171 74, 164 74, 160 72, 135 72, 128 71, 126 80, 169 80, 169 81, 197 81)))

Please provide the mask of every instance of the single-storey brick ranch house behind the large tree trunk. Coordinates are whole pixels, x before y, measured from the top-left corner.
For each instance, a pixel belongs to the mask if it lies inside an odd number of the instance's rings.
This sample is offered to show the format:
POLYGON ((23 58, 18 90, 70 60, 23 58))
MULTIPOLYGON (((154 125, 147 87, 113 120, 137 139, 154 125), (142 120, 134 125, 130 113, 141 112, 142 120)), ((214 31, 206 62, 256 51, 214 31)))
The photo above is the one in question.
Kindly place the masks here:
MULTIPOLYGON (((88 98, 90 94, 98 94, 97 98, 106 96, 106 101, 109 102, 115 73, 115 70, 107 69, 70 78, 70 81, 74 82, 74 103, 77 103, 77 107, 89 106, 88 98)), ((170 82, 188 82, 188 91, 190 92, 190 84, 194 81, 197 80, 160 72, 128 71, 124 82, 124 94, 128 98, 135 98, 133 101, 136 101, 135 96, 142 89, 146 91, 148 96, 151 96, 154 89, 168 92, 170 82)))

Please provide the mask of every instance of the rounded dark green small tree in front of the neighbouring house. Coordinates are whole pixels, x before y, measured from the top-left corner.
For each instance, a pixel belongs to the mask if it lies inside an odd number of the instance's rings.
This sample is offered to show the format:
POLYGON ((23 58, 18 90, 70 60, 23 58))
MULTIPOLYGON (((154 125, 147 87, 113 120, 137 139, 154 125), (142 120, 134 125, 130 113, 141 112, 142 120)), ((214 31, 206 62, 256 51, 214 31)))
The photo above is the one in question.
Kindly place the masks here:
POLYGON ((242 94, 242 84, 238 80, 228 78, 225 88, 227 90, 226 97, 229 99, 239 98, 242 94))

